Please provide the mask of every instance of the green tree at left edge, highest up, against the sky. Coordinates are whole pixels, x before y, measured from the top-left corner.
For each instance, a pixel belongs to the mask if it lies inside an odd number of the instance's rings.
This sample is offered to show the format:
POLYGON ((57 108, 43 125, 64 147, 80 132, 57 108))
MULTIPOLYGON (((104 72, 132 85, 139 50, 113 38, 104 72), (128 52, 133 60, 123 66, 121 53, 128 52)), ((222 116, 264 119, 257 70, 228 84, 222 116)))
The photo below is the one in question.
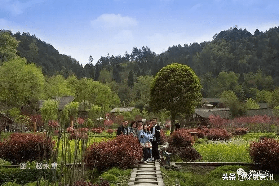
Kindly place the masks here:
POLYGON ((0 62, 15 58, 19 41, 11 36, 10 32, 0 30, 0 62))

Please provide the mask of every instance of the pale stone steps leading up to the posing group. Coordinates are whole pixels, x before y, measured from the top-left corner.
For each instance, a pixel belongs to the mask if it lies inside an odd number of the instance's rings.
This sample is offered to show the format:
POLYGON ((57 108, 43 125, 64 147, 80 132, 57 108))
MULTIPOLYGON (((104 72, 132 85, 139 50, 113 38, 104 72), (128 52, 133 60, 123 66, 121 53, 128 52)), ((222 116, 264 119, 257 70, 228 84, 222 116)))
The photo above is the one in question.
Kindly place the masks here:
POLYGON ((165 185, 163 182, 160 162, 139 162, 133 168, 128 186, 165 185))

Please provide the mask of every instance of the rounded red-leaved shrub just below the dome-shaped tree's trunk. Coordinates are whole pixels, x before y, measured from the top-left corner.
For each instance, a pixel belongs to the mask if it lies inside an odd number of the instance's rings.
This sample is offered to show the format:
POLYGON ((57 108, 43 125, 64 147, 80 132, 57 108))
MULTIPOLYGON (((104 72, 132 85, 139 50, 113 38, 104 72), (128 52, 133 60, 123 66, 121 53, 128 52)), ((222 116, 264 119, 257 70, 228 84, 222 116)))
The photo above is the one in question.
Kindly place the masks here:
POLYGON ((187 130, 174 131, 168 139, 168 144, 176 148, 189 147, 192 146, 193 143, 193 137, 187 130))

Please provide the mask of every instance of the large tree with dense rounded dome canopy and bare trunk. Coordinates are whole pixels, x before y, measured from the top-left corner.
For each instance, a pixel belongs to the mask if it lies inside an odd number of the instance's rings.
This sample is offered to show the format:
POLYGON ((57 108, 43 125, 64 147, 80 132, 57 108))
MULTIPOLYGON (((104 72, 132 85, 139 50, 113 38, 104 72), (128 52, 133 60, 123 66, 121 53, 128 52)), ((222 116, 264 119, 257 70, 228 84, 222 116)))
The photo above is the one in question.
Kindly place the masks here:
POLYGON ((173 63, 157 73, 150 86, 150 96, 154 112, 170 112, 173 132, 177 115, 189 116, 195 112, 201 101, 201 84, 190 67, 173 63))

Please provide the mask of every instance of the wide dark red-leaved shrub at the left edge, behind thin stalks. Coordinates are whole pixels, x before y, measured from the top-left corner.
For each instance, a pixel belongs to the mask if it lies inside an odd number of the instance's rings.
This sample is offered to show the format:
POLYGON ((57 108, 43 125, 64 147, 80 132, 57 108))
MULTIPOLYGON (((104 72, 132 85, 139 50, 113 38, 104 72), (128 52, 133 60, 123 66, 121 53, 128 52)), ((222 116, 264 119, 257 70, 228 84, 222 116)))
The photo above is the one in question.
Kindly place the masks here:
POLYGON ((0 142, 0 158, 13 165, 27 161, 42 161, 45 147, 48 160, 53 154, 53 145, 54 141, 51 138, 46 141, 45 133, 40 135, 14 133, 0 142))

